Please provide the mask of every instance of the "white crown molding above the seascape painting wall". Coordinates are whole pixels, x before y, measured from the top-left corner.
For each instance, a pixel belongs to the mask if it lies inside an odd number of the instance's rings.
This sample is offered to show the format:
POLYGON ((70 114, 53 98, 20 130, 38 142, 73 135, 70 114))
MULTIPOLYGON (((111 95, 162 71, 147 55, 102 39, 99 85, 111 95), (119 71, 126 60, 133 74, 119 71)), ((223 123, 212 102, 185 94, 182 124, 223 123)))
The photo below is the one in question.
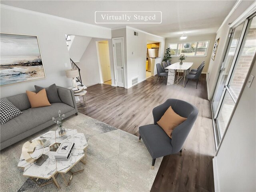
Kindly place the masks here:
POLYGON ((88 23, 84 23, 84 22, 80 22, 80 21, 75 21, 75 20, 71 20, 71 19, 67 19, 67 18, 63 18, 63 17, 58 17, 58 16, 46 14, 46 13, 40 13, 40 12, 27 10, 27 9, 22 9, 22 8, 13 7, 13 6, 4 5, 4 4, 0 4, 0 8, 1 9, 6 9, 6 10, 17 11, 17 12, 21 12, 21 13, 26 13, 26 14, 38 15, 38 16, 43 16, 43 17, 48 17, 48 18, 54 18, 54 19, 65 21, 65 22, 72 22, 72 23, 75 23, 75 24, 86 25, 88 27, 95 27, 95 28, 100 28, 100 29, 111 30, 111 28, 107 28, 107 27, 88 24, 88 23))

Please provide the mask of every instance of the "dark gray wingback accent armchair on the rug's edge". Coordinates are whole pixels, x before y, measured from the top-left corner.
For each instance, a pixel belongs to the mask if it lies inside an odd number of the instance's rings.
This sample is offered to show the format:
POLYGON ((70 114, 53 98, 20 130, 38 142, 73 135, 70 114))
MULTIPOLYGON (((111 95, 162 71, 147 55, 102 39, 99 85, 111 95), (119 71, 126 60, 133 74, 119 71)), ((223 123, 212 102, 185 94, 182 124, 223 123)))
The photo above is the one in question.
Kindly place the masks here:
POLYGON ((160 106, 155 107, 152 112, 154 124, 139 127, 139 141, 141 139, 143 140, 148 152, 152 156, 152 169, 154 169, 156 158, 178 152, 182 156, 182 146, 196 121, 198 109, 188 102, 178 99, 168 99, 160 106), (187 118, 187 120, 173 130, 172 138, 156 123, 170 106, 172 106, 172 109, 177 114, 187 118))

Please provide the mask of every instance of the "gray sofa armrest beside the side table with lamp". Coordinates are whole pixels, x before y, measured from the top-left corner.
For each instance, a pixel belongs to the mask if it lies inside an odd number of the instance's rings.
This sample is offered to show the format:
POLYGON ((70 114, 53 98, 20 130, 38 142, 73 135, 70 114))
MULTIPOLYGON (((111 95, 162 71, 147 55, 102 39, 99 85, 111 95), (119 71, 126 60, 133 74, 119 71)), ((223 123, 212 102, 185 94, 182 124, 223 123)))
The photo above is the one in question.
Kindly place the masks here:
POLYGON ((68 88, 64 88, 64 87, 60 87, 60 86, 56 86, 56 87, 57 87, 57 92, 60 97, 60 100, 63 103, 75 108, 76 114, 77 114, 78 109, 76 106, 76 99, 74 96, 74 91, 72 89, 68 89, 68 88))

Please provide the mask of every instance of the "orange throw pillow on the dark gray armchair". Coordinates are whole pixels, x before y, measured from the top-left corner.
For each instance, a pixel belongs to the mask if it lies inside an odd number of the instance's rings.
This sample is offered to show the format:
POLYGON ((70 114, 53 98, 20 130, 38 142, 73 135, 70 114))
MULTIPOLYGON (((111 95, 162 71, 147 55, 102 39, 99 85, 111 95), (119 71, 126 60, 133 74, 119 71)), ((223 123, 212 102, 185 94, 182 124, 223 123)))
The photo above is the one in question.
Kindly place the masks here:
POLYGON ((172 106, 170 106, 161 119, 156 122, 165 132, 166 134, 172 138, 172 131, 176 126, 184 122, 187 118, 179 116, 172 110, 172 106))

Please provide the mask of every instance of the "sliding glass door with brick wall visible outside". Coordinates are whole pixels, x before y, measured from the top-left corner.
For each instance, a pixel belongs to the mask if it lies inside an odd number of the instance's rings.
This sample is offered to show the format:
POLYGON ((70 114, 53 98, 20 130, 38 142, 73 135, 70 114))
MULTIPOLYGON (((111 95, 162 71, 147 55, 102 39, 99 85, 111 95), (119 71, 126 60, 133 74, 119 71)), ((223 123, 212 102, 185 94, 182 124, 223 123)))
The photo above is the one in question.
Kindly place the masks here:
POLYGON ((256 52, 256 17, 232 30, 212 107, 219 141, 222 139, 256 52), (233 46, 232 46, 233 45, 233 46), (232 51, 233 49, 233 51, 232 51))

